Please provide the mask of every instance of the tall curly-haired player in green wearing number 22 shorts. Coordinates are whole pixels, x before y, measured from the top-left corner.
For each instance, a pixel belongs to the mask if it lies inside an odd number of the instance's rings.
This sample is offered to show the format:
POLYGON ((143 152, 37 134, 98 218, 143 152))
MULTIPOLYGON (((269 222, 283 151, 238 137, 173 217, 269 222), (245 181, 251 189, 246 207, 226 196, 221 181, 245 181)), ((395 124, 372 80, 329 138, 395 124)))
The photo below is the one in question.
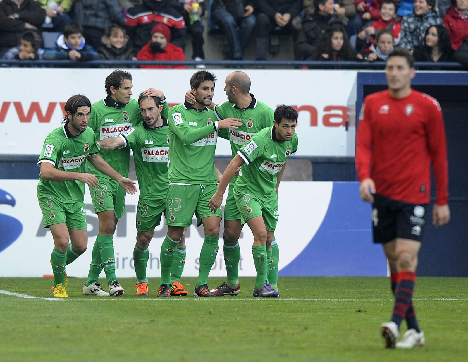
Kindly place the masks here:
MULTIPOLYGON (((132 74, 115 70, 105 81, 107 97, 93 104, 89 118, 89 126, 94 130, 96 139, 125 133, 131 127, 142 122, 138 102, 132 99, 132 74)), ((147 89, 147 96, 160 96, 161 91, 147 89)), ((166 105, 167 108, 167 105, 166 105)), ((130 168, 130 149, 103 151, 102 157, 124 176, 130 168)), ((125 194, 119 190, 116 183, 95 170, 93 165, 86 165, 88 172, 93 172, 100 178, 99 185, 90 187, 91 199, 99 220, 99 232, 93 247, 91 266, 88 279, 83 286, 83 294, 106 296, 101 287, 97 286, 99 274, 104 269, 111 296, 122 296, 124 288, 116 277, 113 235, 120 217, 125 214, 125 194)))

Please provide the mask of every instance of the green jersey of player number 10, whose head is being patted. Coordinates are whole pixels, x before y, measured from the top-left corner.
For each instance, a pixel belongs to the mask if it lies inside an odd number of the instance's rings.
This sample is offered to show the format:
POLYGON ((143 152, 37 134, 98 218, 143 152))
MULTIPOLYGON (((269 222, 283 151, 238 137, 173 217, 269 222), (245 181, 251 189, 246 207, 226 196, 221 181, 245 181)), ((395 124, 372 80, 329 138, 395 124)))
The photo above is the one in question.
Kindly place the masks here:
POLYGON ((168 191, 169 127, 167 119, 158 128, 140 123, 119 137, 133 150, 140 197, 165 199, 168 191))

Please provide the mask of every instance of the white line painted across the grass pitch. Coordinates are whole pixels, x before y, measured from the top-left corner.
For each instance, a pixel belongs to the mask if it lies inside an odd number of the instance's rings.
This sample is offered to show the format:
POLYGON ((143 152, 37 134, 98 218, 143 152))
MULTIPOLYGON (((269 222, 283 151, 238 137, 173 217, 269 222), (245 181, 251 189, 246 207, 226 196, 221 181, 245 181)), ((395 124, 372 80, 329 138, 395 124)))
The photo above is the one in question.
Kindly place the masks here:
MULTIPOLYGON (((43 300, 63 300, 64 298, 44 298, 39 296, 29 296, 27 294, 21 293, 12 293, 8 292, 7 290, 0 290, 0 294, 6 294, 7 296, 16 296, 18 298, 26 298, 26 299, 43 299, 43 300)), ((257 298, 256 300, 262 300, 264 298, 257 298)), ((275 299, 275 298, 269 298, 275 299)), ((138 299, 129 299, 129 298, 105 298, 105 297, 87 297, 87 298, 67 298, 66 300, 75 301, 75 302, 95 302, 95 301, 163 301, 168 300, 167 298, 146 298, 140 297, 138 299)), ((183 297, 172 297, 170 300, 177 300, 177 301, 189 301, 189 300, 196 300, 202 301, 205 298, 183 298, 183 297)), ((208 299, 209 300, 209 299, 208 299)), ((228 300, 228 301, 245 301, 245 300, 252 300, 250 298, 240 297, 240 298, 217 298, 217 300, 228 300)), ((353 299, 353 298, 279 298, 278 300, 282 301, 293 301, 293 302, 389 302, 393 301, 393 299, 353 299)), ((440 302, 466 302, 468 298, 416 298, 414 301, 440 301, 440 302)))

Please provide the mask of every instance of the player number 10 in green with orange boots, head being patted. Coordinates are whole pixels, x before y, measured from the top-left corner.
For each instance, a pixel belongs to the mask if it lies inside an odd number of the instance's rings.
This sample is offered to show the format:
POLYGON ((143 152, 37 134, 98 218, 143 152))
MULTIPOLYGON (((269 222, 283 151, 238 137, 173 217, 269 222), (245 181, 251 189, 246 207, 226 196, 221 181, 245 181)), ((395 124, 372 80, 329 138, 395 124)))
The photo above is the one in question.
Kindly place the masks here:
MULTIPOLYGON (((135 161, 140 196, 137 209, 137 242, 133 249, 133 262, 137 275, 137 296, 149 296, 146 266, 149 259, 148 246, 154 235, 154 228, 161 223, 165 213, 166 192, 168 190, 168 121, 161 115, 162 104, 158 97, 140 94, 139 110, 144 122, 130 128, 117 137, 98 141, 102 150, 131 148, 135 161)), ((185 235, 184 235, 185 236, 185 235)), ((176 249, 176 262, 171 272, 171 295, 186 296, 180 284, 185 263, 185 237, 176 249)))

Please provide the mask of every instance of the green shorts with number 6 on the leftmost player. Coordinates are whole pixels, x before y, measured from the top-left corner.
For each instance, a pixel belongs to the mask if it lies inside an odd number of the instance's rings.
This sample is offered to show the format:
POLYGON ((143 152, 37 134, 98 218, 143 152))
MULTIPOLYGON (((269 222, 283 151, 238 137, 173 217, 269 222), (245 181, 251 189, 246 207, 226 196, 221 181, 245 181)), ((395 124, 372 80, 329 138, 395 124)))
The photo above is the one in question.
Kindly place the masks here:
POLYGON ((83 201, 65 203, 55 197, 37 196, 44 216, 44 228, 65 222, 70 229, 86 230, 86 206, 83 201))

